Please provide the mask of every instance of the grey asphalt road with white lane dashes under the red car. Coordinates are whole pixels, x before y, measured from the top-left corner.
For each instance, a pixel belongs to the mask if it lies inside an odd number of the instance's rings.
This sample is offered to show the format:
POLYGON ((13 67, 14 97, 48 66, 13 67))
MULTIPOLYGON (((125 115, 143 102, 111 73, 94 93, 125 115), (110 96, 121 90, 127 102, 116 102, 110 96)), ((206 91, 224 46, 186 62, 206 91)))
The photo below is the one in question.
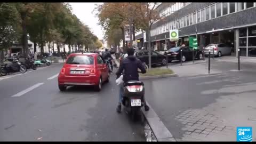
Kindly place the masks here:
POLYGON ((61 66, 0 77, 0 141, 146 141, 142 124, 116 113, 114 74, 100 92, 60 92, 61 66))

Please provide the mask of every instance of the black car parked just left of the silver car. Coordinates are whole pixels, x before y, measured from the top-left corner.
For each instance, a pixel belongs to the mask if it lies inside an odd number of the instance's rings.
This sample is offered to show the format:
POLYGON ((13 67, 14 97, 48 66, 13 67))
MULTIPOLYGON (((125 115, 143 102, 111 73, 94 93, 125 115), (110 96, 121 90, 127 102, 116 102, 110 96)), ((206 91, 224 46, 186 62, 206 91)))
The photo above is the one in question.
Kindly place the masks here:
MULTIPOLYGON (((182 49, 182 58, 181 58, 182 62, 185 62, 188 60, 193 60, 193 48, 188 47, 188 46, 172 47, 171 49, 164 52, 164 54, 167 53, 169 62, 172 62, 173 60, 180 60, 180 50, 181 49, 182 49)), ((196 49, 194 51, 194 58, 200 59, 200 60, 203 59, 203 52, 199 49, 196 49)))

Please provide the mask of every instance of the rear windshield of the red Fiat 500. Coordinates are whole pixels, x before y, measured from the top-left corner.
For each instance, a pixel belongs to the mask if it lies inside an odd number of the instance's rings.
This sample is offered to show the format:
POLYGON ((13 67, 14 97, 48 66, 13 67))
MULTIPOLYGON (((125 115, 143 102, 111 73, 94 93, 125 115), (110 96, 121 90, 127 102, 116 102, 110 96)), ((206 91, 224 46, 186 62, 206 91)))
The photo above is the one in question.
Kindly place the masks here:
POLYGON ((68 58, 66 63, 77 65, 94 65, 94 58, 92 55, 73 55, 68 58))

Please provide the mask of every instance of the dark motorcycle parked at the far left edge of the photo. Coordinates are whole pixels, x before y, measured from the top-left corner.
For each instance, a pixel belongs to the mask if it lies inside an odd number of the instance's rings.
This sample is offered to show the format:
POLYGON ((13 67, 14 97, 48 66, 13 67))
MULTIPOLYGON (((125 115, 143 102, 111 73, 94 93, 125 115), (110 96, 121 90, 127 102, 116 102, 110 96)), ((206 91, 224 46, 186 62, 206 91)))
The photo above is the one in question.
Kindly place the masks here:
POLYGON ((11 65, 2 65, 0 69, 1 76, 5 76, 10 73, 15 73, 20 71, 20 73, 26 73, 27 68, 25 65, 22 65, 17 59, 14 59, 11 65))

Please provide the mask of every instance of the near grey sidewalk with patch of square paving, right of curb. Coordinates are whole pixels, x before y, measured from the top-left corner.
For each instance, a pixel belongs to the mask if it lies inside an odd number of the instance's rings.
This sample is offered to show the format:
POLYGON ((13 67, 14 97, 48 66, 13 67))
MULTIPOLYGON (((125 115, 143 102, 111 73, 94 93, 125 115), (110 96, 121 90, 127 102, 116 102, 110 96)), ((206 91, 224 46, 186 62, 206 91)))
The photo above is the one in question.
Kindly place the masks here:
MULTIPOLYGON (((207 77, 148 80, 145 94, 175 140, 236 141, 237 126, 256 130, 253 75, 229 71, 207 77)), ((252 138, 256 140, 254 132, 252 138)))

